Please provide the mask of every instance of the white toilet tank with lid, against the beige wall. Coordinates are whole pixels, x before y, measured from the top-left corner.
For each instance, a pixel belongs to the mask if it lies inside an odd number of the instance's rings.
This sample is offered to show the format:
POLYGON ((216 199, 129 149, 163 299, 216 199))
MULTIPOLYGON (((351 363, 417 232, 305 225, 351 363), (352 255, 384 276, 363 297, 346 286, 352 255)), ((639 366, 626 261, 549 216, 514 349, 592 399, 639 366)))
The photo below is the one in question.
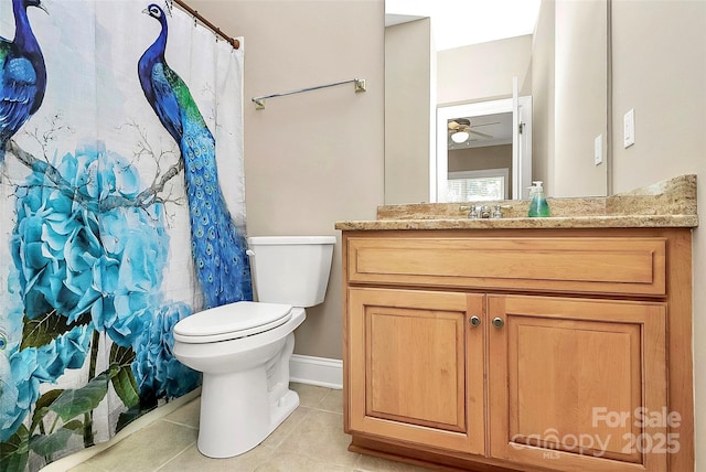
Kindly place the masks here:
POLYGON ((303 308, 323 301, 335 236, 253 236, 247 244, 259 301, 303 308))

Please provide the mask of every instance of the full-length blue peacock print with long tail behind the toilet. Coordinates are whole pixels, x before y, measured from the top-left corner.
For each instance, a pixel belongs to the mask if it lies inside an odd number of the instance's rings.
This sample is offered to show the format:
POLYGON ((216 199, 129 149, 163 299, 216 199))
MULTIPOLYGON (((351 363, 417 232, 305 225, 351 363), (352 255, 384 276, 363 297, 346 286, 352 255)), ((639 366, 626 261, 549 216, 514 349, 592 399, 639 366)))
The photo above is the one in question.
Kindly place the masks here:
POLYGON ((139 62, 145 96, 181 150, 191 223, 191 254, 206 308, 252 300, 245 239, 235 226, 218 184, 215 140, 184 81, 167 65, 168 22, 158 4, 146 12, 161 32, 139 62))

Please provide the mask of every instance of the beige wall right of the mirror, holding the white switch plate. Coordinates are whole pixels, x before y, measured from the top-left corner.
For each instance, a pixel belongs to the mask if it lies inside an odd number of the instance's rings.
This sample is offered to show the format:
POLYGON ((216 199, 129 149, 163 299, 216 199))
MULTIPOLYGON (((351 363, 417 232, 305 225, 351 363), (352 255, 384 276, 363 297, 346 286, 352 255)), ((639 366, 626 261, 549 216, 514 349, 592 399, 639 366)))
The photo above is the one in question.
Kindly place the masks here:
MULTIPOLYGON (((613 190, 696 173, 706 208, 706 1, 613 0, 613 190), (635 111, 635 143, 622 143, 635 111)), ((703 210, 702 210, 703 219, 703 210)), ((706 232, 694 230, 697 472, 706 471, 706 232)), ((692 340, 684 340, 685 343, 692 340)))

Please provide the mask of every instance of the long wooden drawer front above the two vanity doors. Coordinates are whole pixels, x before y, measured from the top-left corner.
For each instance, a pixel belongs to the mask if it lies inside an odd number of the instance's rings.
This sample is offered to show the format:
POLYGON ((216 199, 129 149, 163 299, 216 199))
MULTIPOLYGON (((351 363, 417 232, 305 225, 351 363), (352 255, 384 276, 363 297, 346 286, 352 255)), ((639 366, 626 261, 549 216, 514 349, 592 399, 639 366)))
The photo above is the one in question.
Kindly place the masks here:
POLYGON ((347 239, 350 283, 665 293, 665 238, 347 239))

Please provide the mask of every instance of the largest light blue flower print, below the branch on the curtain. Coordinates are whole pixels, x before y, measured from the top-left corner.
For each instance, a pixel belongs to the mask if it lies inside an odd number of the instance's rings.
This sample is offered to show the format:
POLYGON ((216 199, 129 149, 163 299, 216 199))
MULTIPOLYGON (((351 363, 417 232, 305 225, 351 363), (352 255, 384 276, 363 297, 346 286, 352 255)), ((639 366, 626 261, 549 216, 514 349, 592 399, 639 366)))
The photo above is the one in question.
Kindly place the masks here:
POLYGON ((90 312, 96 329, 130 346, 142 330, 140 309, 162 282, 163 206, 100 211, 99 202, 140 191, 137 169, 101 144, 65 154, 57 170, 73 193, 40 172, 18 189, 11 245, 26 317, 55 311, 71 323, 90 312))

